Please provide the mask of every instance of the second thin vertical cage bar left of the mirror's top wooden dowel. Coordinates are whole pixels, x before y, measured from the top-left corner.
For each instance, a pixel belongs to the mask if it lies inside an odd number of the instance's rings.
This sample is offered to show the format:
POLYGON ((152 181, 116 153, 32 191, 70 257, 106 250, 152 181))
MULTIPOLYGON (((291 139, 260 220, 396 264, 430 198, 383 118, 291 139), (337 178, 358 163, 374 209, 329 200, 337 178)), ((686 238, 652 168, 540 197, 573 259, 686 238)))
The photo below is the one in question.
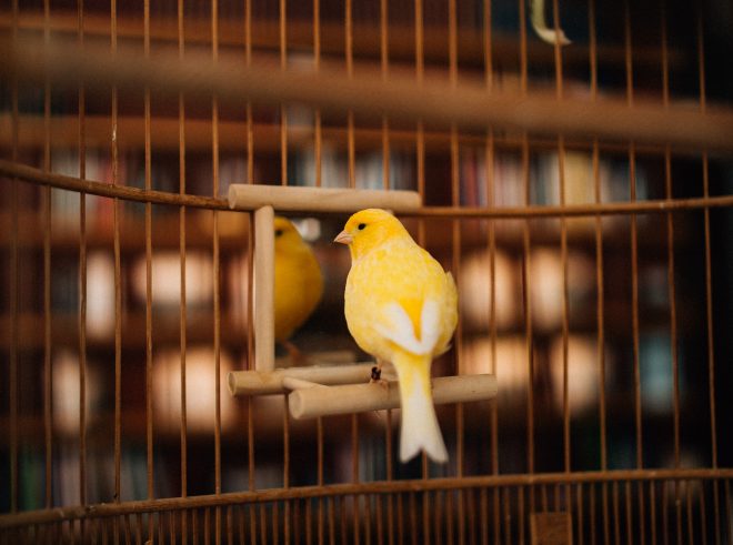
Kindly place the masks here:
MULTIPOLYGON (((184 36, 184 2, 178 0, 178 55, 181 61, 184 59, 185 36, 184 36)), ((179 158, 179 193, 185 194, 185 97, 179 93, 178 97, 178 158, 179 158)), ((180 259, 180 307, 179 307, 179 337, 180 337, 180 380, 181 380, 181 497, 188 496, 189 463, 188 463, 188 386, 187 386, 187 346, 188 346, 188 313, 187 313, 187 232, 185 232, 185 206, 179 208, 179 259, 180 259)), ((181 516, 181 541, 188 543, 188 517, 181 516)))

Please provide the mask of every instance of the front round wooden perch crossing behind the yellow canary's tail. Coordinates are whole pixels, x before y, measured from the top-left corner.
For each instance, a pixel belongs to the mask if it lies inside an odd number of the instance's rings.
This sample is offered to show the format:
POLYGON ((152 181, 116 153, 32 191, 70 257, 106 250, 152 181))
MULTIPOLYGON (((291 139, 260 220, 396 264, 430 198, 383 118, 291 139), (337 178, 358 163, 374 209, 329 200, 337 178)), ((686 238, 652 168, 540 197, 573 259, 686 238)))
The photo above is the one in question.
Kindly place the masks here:
MULTIPOLYGON (((496 395, 494 375, 459 375, 433 379, 433 403, 460 403, 491 400, 496 395)), ((396 382, 351 384, 295 390, 289 396, 294 418, 312 418, 333 414, 362 413, 400 407, 396 382)))

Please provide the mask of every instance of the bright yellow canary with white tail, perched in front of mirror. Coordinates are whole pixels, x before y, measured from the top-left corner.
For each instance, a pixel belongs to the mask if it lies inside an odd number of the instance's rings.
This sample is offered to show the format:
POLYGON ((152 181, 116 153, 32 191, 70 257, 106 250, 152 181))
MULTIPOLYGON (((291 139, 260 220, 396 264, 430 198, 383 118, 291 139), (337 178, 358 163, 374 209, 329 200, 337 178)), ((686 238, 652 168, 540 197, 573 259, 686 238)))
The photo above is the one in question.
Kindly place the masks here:
POLYGON ((449 349, 458 322, 453 276, 384 210, 357 212, 335 242, 349 244, 351 252, 344 293, 349 331, 362 350, 378 362, 392 362, 398 373, 400 460, 424 451, 446 462, 430 366, 449 349))

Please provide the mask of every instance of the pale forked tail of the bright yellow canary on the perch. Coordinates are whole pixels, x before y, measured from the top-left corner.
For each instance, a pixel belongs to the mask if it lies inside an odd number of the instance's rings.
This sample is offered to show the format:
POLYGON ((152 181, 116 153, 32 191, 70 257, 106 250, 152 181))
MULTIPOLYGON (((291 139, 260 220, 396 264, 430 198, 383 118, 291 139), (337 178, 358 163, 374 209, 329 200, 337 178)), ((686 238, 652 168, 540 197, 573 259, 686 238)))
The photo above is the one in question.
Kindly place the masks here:
POLYGON ((402 425, 400 460, 406 462, 425 451, 434 462, 448 462, 430 384, 430 355, 401 353, 392 362, 400 381, 402 425))

